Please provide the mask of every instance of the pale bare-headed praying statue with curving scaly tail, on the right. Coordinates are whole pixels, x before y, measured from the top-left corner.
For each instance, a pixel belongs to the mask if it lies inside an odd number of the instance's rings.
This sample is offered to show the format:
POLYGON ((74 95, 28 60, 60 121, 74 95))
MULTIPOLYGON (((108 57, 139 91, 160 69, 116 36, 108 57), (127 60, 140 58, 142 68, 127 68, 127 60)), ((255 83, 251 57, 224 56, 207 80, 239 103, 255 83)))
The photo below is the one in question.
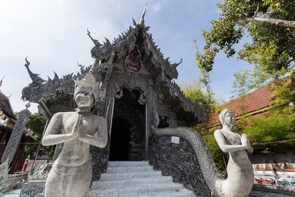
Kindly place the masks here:
POLYGON ((248 197, 254 182, 254 172, 247 152, 253 153, 245 134, 234 131, 236 118, 230 109, 219 113, 221 130, 214 132, 215 139, 223 152, 229 153, 228 178, 219 183, 222 197, 248 197))

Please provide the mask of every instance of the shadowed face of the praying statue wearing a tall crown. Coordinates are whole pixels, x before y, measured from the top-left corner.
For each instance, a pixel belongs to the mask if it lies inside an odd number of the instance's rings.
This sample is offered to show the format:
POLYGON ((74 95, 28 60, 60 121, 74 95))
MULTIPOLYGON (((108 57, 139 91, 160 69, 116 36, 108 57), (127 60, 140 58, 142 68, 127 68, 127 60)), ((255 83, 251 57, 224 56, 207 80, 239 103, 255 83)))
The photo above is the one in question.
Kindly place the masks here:
POLYGON ((95 104, 95 99, 93 94, 88 92, 79 92, 75 96, 75 103, 80 109, 92 108, 95 104))

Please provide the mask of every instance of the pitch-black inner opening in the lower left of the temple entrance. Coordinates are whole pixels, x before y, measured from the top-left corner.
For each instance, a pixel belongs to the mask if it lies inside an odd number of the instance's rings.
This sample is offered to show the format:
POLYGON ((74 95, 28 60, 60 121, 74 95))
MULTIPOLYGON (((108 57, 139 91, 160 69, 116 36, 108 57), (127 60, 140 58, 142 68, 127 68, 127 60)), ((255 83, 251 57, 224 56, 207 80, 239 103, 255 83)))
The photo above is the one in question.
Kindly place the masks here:
POLYGON ((113 118, 109 161, 128 161, 130 124, 118 117, 113 118))

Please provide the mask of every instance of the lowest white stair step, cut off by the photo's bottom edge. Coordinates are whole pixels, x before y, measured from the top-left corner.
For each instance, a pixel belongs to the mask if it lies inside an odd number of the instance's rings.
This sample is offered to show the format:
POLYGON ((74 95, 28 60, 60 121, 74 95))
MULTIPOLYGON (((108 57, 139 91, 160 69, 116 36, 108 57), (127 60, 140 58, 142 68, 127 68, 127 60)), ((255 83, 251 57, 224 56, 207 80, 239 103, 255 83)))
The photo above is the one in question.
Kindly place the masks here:
POLYGON ((161 193, 150 193, 144 194, 140 196, 120 196, 120 197, 195 197, 192 191, 183 189, 179 190, 179 192, 161 192, 161 193))

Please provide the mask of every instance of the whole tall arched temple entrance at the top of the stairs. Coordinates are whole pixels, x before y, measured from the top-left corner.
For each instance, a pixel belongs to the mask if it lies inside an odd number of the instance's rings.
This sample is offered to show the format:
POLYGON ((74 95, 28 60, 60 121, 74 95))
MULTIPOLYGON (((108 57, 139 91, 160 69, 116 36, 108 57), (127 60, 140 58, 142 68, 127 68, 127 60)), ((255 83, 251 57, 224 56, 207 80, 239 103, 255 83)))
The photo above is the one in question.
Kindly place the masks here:
POLYGON ((115 98, 109 161, 145 159, 146 105, 139 103, 140 93, 123 89, 115 98))

